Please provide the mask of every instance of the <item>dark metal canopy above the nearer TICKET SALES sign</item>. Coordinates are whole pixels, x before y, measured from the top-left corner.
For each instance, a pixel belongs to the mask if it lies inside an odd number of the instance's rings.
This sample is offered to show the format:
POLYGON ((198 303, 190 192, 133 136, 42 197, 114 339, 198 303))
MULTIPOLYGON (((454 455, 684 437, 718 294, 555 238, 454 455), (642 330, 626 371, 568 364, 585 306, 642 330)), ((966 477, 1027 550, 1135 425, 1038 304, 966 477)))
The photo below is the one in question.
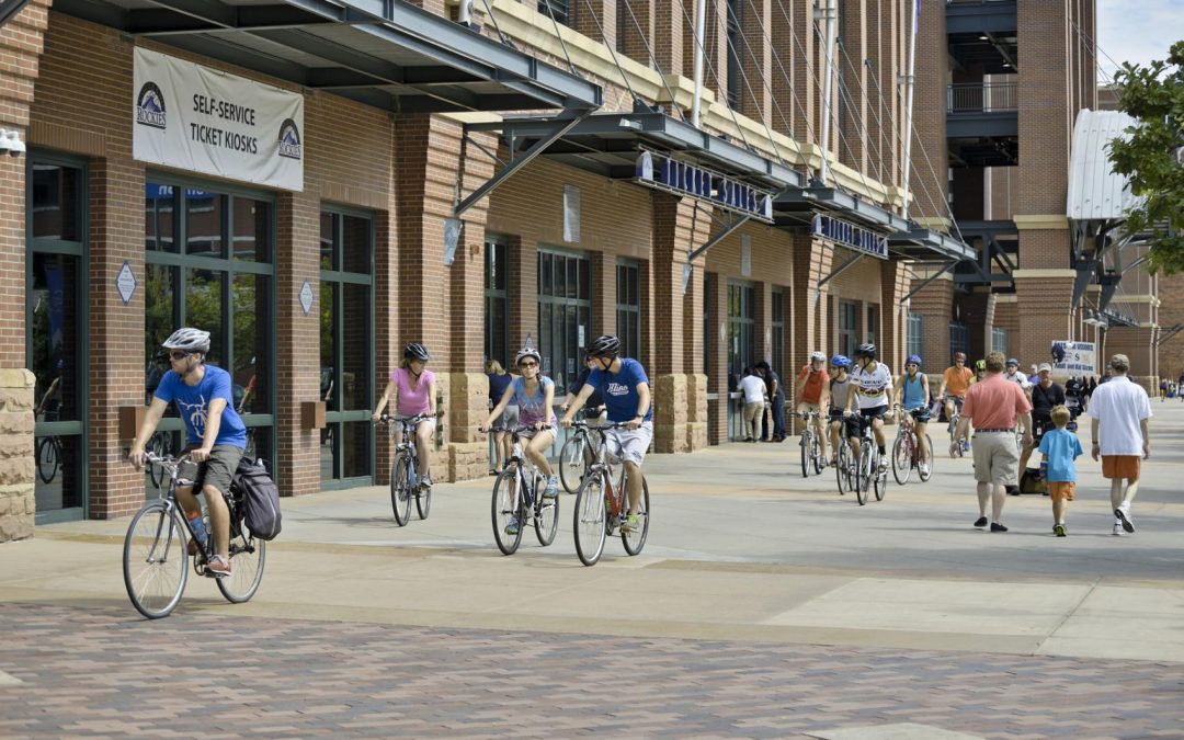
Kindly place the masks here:
MULTIPOLYGON (((501 131, 513 155, 545 139, 555 122, 551 117, 520 117, 468 128, 501 131)), ((592 114, 551 143, 542 155, 605 178, 630 180, 636 176, 637 157, 644 150, 674 155, 764 189, 802 185, 802 175, 786 165, 651 110, 592 114)))

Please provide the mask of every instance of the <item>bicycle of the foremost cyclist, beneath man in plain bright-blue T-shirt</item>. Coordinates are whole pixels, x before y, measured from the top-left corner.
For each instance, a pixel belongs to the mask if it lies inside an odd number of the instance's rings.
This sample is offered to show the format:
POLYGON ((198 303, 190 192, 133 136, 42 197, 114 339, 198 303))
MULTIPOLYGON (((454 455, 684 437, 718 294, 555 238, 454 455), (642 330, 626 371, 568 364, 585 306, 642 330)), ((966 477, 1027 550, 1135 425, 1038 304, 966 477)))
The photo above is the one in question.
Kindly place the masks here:
MULTIPOLYGON (((178 485, 193 484, 179 472, 189 462, 188 453, 173 459, 149 452, 147 462, 168 475, 168 487, 161 489, 157 501, 149 502, 131 517, 123 540, 123 585, 136 611, 149 619, 160 619, 176 609, 185 593, 189 575, 187 540, 195 542, 194 572, 215 578, 206 567, 214 556, 214 539, 208 525, 205 541, 198 538, 176 501, 178 485)), ((230 494, 224 497, 230 509, 232 574, 217 577, 217 584, 227 601, 242 604, 255 596, 263 581, 266 542, 255 538, 243 521, 243 491, 231 484, 230 494)))

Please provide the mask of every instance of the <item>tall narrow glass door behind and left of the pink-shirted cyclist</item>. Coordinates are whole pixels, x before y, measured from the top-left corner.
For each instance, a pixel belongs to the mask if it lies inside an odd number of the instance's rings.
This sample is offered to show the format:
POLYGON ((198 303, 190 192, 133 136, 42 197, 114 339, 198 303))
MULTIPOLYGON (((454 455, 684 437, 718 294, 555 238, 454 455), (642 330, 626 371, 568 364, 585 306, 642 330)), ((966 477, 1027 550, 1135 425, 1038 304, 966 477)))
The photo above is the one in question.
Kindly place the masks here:
POLYGON ((368 214, 321 212, 321 487, 374 480, 374 230, 368 214))

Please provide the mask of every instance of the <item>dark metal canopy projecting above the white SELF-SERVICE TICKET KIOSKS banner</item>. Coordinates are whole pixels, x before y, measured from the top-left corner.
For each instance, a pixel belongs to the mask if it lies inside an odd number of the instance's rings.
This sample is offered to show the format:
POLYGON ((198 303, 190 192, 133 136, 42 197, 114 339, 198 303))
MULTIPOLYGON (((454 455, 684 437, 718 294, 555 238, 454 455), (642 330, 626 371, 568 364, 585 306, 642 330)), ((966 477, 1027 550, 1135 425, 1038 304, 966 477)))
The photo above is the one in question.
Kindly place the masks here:
POLYGON ((599 85, 404 0, 59 0, 53 9, 393 112, 593 109, 599 85))

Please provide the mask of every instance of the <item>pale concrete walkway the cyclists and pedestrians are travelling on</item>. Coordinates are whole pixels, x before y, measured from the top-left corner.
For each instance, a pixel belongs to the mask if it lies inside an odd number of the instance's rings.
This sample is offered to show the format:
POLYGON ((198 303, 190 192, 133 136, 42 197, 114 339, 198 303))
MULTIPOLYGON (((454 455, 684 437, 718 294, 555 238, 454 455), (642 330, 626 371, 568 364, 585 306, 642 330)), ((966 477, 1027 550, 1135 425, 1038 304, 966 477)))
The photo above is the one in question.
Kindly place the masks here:
MULTIPOLYGON (((610 540, 599 565, 580 565, 572 496, 553 546, 528 530, 507 558, 493 478, 438 484, 431 517, 403 528, 385 488, 352 489, 283 501, 250 604, 193 578, 179 612, 1184 663, 1184 407, 1154 411, 1131 536, 1111 535, 1108 489, 1087 458, 1058 539, 1043 496, 1009 498, 1010 533, 972 528, 969 459, 939 459, 928 483, 893 482, 858 507, 830 470, 803 480, 792 442, 735 444, 646 461, 654 522, 637 558, 610 540)), ((46 526, 0 546, 0 600, 134 614, 127 523, 46 526)))

